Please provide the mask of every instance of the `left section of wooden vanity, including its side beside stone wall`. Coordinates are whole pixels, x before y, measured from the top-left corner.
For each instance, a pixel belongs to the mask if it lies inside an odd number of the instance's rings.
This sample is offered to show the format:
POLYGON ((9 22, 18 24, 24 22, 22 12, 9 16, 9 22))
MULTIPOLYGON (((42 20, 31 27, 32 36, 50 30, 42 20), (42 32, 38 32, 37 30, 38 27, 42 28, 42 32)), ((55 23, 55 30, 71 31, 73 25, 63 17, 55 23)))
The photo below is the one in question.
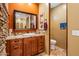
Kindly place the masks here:
POLYGON ((14 39, 7 41, 6 52, 11 56, 22 56, 23 42, 22 39, 14 39))

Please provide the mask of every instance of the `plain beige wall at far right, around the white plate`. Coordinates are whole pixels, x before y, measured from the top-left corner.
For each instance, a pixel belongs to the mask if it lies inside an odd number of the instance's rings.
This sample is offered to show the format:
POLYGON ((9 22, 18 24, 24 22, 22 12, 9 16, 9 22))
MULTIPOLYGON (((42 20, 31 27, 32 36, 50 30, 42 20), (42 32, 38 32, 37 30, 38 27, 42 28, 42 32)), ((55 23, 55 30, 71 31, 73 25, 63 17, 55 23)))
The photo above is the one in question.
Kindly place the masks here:
POLYGON ((79 56, 79 36, 72 36, 72 30, 79 30, 79 4, 68 4, 68 55, 79 56))

